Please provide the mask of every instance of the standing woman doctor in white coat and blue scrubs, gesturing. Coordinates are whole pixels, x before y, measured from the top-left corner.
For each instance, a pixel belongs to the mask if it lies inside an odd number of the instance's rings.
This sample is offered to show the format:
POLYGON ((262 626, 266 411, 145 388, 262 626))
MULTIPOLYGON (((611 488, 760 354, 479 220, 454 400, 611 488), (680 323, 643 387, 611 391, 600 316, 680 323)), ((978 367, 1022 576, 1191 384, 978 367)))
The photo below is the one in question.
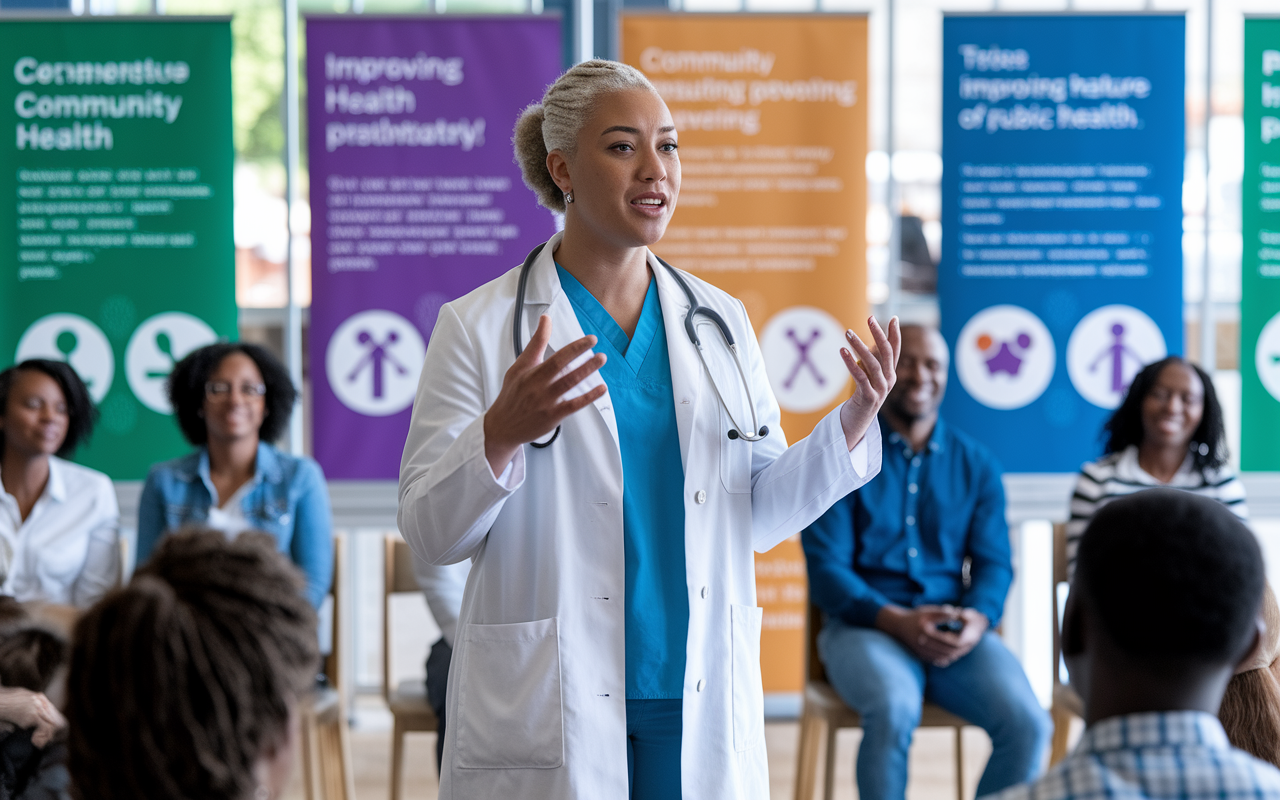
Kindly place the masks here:
POLYGON ((878 472, 897 321, 847 334, 852 397, 787 447, 742 305, 648 250, 680 192, 649 81, 579 64, 515 143, 564 232, 442 308, 401 465, 417 557, 472 559, 440 796, 767 797, 753 549, 878 472))

